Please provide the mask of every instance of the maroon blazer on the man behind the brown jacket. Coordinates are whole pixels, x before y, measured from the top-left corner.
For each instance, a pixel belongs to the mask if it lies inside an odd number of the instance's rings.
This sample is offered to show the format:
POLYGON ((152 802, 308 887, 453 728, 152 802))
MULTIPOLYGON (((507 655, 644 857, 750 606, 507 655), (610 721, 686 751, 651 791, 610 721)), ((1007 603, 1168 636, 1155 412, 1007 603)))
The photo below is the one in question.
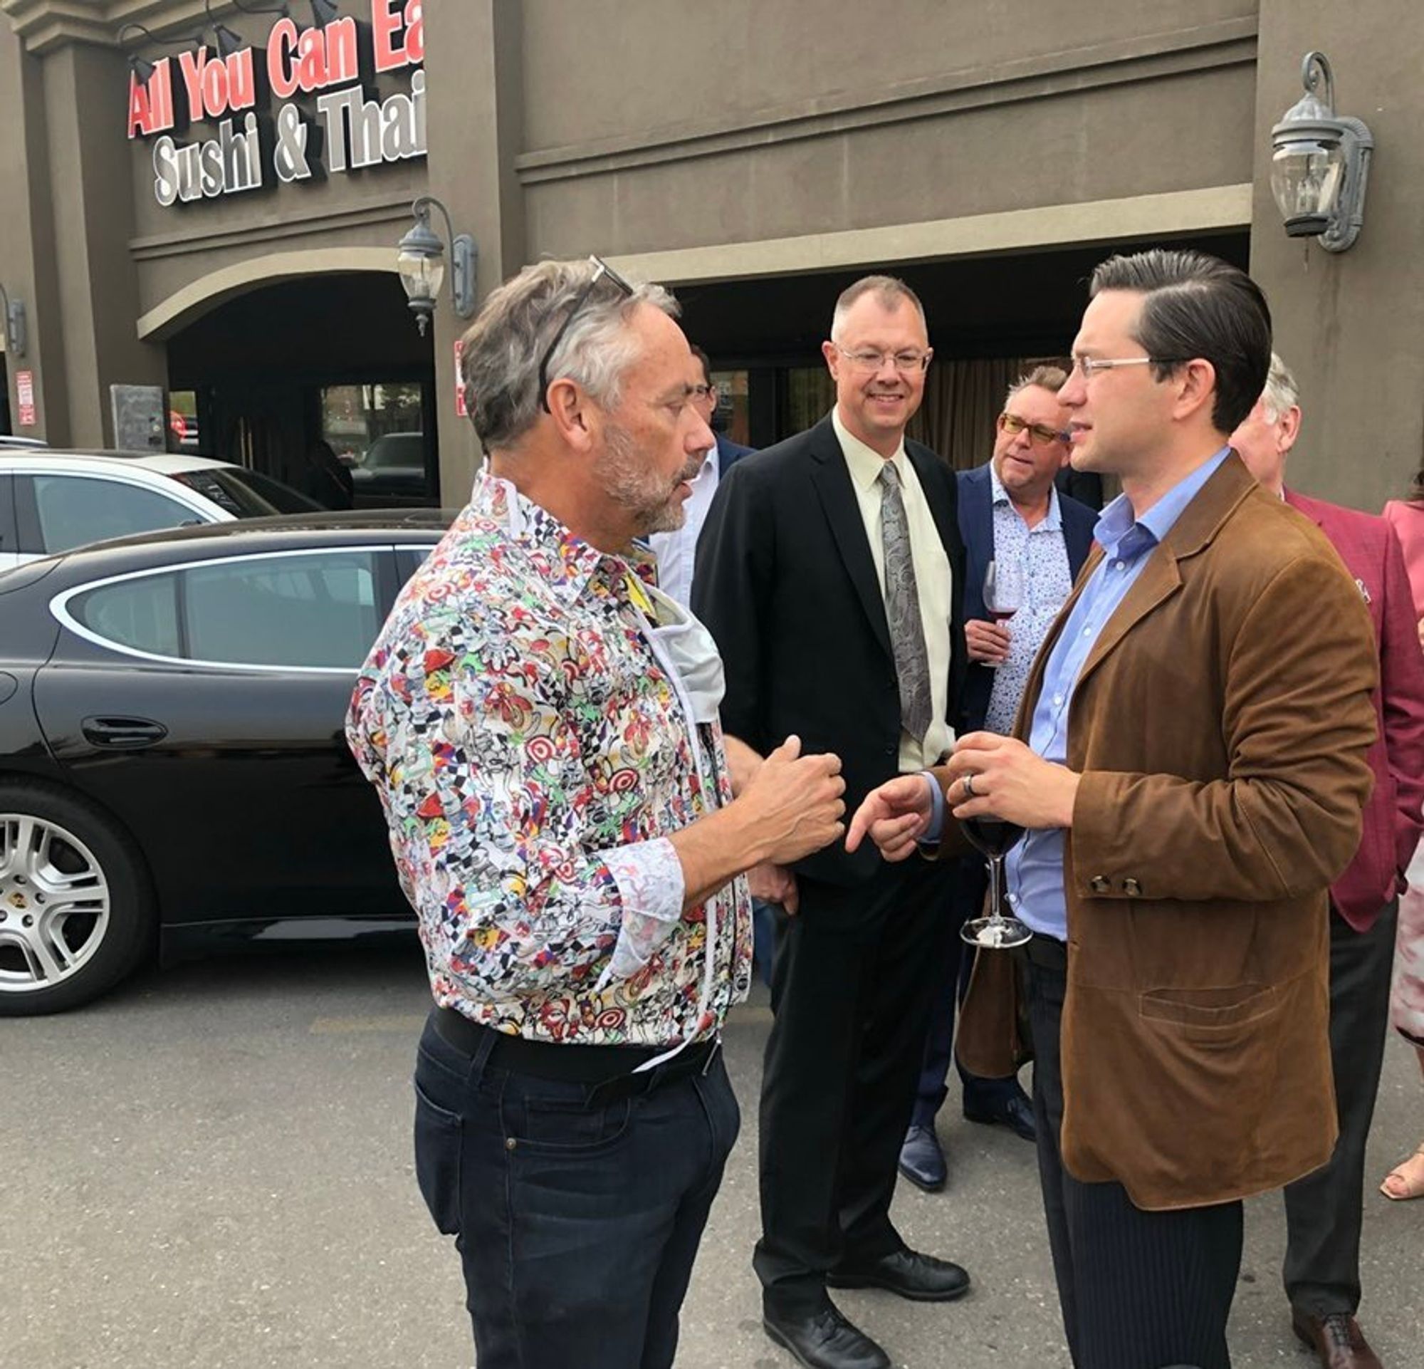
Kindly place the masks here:
POLYGON ((1380 735, 1370 748, 1374 792, 1360 849, 1330 886, 1330 900, 1356 932, 1404 890, 1404 869, 1424 831, 1424 652, 1400 540, 1384 519, 1286 490, 1286 503, 1317 523, 1354 577, 1374 623, 1380 735))

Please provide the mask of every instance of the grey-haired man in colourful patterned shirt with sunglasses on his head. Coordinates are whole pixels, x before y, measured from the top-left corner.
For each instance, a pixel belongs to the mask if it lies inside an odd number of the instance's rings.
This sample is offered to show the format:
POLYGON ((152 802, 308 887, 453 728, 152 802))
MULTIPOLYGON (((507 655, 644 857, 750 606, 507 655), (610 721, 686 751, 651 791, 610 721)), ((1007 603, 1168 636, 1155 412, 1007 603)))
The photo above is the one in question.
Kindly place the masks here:
POLYGON ((464 340, 488 466, 347 722, 420 919, 416 1174, 480 1369, 672 1365, 739 1121, 739 876, 842 832, 840 762, 795 738, 733 798, 715 647, 632 548, 712 442, 675 312, 597 261, 490 296, 464 340))

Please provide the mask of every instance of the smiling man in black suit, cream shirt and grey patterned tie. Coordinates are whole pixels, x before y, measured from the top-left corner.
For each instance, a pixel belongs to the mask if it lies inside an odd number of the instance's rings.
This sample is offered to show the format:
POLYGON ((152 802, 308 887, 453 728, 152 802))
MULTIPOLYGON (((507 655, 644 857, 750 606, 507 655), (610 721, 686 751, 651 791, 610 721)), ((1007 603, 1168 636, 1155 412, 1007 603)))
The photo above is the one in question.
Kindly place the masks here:
MULTIPOLYGON (((857 281, 822 350, 834 409, 722 482, 692 607, 722 652, 726 732, 763 755, 787 732, 834 751, 849 811, 951 745, 964 548, 953 473, 904 440, 930 362, 920 301, 890 276, 857 281)), ((827 1285, 917 1301, 968 1288, 890 1222, 954 875, 839 846, 776 875, 799 909, 772 977, 753 1264, 768 1333, 812 1369, 890 1365, 827 1285)))

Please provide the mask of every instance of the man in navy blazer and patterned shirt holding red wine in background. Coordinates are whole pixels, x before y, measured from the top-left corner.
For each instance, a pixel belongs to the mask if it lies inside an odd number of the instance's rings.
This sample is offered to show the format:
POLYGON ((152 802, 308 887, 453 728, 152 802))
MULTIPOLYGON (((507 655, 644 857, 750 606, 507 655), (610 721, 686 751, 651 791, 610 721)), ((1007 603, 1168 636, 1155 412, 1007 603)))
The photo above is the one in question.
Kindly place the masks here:
MULTIPOLYGON (((1058 402, 1067 379, 1058 366, 1035 366, 1020 376, 1004 399, 993 456, 974 470, 958 472, 970 658, 961 734, 981 728, 1011 731, 1038 647, 1092 546, 1094 511, 1055 486, 1057 474, 1068 464, 1068 410, 1058 402), (1012 570, 1021 588, 1007 621, 995 621, 984 605, 990 563, 1000 576, 1012 570)), ((956 926, 978 916, 987 880, 983 859, 965 856, 950 912, 956 926)), ((948 1093, 956 1001, 967 986, 960 969, 971 963, 960 953, 961 946, 957 936, 947 946, 914 1113, 900 1147, 900 1172, 927 1192, 943 1188, 948 1177, 934 1118, 948 1093)), ((1034 1108, 1017 1077, 983 1078, 961 1064, 960 1081, 970 1121, 1000 1124, 1025 1141, 1034 1140, 1034 1108)))

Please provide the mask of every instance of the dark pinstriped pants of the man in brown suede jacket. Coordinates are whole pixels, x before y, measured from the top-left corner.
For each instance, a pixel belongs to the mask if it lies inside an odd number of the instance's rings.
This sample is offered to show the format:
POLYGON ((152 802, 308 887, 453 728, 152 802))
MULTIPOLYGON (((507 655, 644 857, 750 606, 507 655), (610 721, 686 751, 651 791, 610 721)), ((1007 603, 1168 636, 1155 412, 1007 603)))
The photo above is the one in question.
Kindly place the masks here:
POLYGON ((1230 1369, 1226 1319, 1242 1261, 1242 1205, 1145 1212, 1121 1184, 1062 1165, 1064 947, 1028 943, 1038 1174, 1064 1331, 1077 1369, 1230 1369))

